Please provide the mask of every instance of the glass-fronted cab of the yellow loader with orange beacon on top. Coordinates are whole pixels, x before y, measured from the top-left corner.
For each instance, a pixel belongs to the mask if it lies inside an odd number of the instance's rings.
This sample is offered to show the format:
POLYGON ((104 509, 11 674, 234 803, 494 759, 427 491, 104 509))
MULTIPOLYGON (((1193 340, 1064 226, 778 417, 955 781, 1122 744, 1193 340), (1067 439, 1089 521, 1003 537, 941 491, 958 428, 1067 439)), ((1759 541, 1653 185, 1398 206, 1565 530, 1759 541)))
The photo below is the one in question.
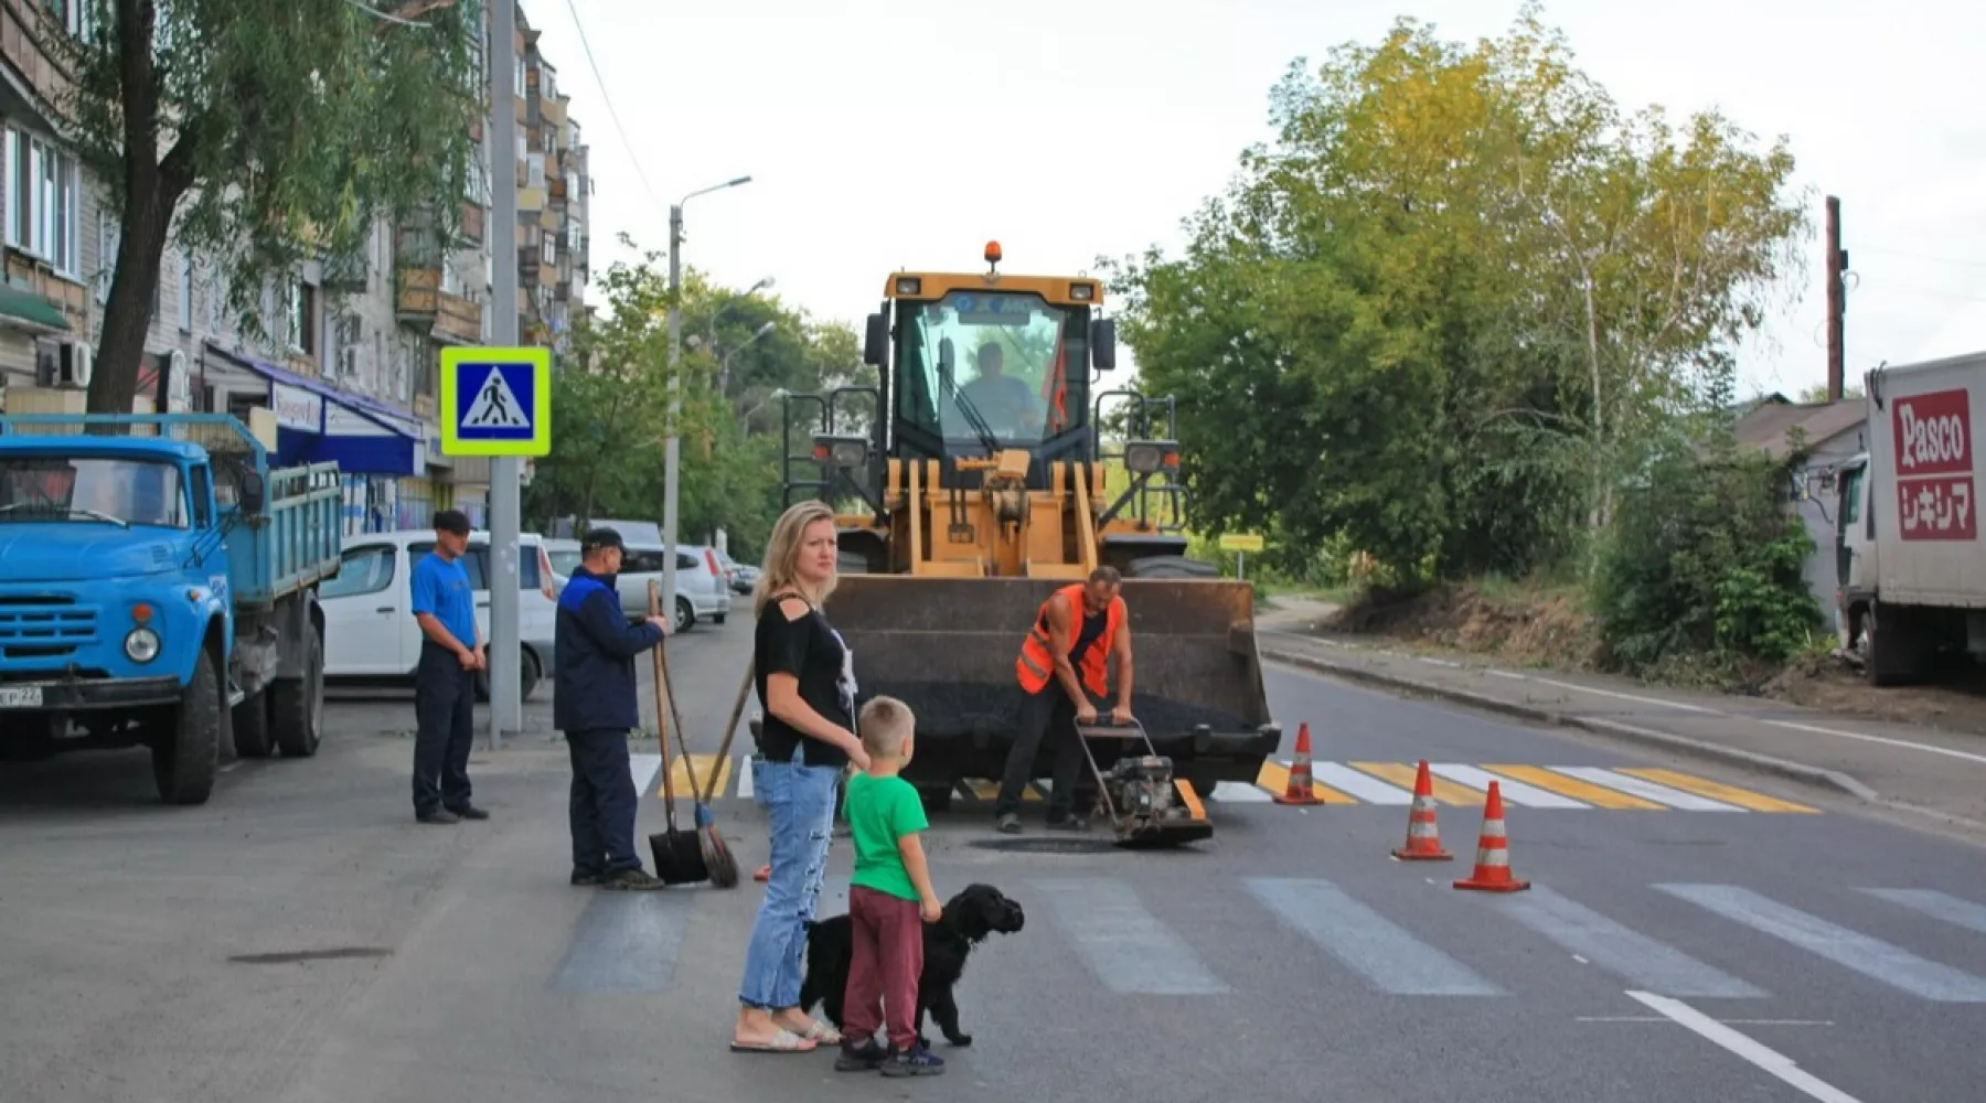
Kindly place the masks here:
POLYGON ((868 319, 864 361, 880 369, 890 458, 1033 454, 1031 482, 1053 460, 1092 460, 1090 383, 1116 365, 1116 323, 1098 317, 1102 284, 985 274, 898 272, 868 319))

